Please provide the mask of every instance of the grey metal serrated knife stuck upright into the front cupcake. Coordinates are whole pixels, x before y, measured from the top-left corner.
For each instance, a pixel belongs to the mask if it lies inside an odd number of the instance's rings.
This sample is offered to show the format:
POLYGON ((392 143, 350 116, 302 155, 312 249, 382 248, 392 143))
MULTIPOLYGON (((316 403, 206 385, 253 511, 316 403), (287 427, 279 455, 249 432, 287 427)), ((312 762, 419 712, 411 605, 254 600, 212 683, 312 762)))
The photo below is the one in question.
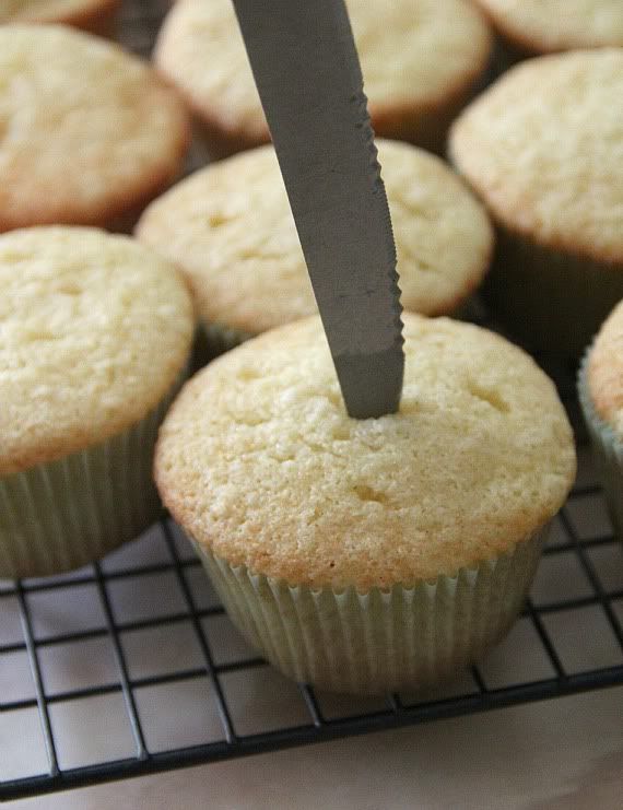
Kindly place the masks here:
POLYGON ((396 246, 344 2, 234 7, 346 410, 393 413, 404 371, 396 246))

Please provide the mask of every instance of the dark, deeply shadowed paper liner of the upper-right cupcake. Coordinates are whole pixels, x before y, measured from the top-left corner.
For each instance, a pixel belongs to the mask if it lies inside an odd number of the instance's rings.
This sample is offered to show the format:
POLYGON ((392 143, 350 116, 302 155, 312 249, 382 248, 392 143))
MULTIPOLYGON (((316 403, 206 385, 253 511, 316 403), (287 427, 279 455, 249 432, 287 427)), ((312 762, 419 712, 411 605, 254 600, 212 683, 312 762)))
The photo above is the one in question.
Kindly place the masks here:
POLYGON ((579 357, 623 297, 623 267, 552 250, 498 227, 483 296, 529 349, 579 357))

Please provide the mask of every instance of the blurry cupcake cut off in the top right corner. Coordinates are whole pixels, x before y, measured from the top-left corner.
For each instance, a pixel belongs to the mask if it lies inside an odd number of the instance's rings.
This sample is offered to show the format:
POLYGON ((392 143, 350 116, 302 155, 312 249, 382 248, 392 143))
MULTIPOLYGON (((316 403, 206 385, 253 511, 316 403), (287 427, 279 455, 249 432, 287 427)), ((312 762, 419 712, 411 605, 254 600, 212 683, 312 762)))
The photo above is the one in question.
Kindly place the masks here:
POLYGON ((621 0, 473 0, 515 58, 623 46, 621 0))

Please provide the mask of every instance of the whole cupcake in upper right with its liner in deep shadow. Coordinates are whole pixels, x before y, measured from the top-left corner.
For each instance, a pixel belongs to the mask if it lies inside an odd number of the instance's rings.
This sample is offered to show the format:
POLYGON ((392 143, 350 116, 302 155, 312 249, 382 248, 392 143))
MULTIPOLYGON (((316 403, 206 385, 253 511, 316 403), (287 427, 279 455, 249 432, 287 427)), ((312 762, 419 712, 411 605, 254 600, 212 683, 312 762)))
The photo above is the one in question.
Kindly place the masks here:
POLYGON ((623 49, 514 68, 455 122, 450 154, 497 225, 495 314, 578 356, 623 297, 623 49))

